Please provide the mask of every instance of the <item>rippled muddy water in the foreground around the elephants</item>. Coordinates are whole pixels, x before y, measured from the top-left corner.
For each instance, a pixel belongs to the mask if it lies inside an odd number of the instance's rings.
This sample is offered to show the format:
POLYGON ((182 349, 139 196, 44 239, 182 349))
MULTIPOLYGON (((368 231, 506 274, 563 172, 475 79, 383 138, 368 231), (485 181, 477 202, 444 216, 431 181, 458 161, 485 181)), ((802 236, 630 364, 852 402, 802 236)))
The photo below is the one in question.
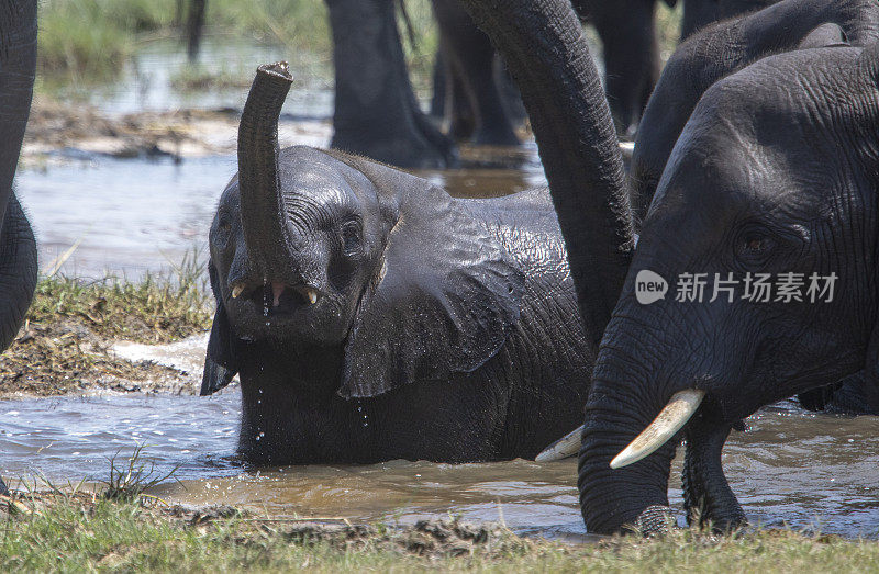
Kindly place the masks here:
MULTIPOLYGON (((92 396, 0 402, 4 476, 42 471, 54 481, 101 480, 108 458, 135 443, 157 471, 179 464, 181 483, 155 489, 164 499, 224 504, 272 516, 344 516, 412 522, 460 515, 521 532, 582 533, 576 461, 488 464, 391 461, 367 466, 289 466, 244 471, 234 453, 240 394, 211 397, 92 396)), ((876 468, 879 419, 768 408, 734 434, 724 450, 733 491, 754 524, 849 537, 879 536, 876 468)), ((680 507, 680 459, 671 502, 680 507)), ((15 481, 12 481, 13 485, 15 481)))

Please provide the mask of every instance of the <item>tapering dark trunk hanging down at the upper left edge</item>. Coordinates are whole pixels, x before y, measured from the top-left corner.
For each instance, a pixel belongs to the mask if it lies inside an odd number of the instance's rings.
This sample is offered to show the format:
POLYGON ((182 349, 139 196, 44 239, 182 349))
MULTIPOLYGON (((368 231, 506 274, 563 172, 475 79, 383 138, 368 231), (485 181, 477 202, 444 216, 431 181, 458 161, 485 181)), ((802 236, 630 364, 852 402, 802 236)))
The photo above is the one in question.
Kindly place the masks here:
POLYGON ((0 226, 12 195, 36 70, 36 0, 0 0, 0 226))

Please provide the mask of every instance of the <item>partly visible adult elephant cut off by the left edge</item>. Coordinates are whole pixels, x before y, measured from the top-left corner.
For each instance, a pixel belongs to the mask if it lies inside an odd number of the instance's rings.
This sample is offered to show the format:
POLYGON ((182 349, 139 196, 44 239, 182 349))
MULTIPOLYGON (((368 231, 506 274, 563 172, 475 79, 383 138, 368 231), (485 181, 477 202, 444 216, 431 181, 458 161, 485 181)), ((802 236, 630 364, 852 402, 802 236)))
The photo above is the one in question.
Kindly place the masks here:
MULTIPOLYGON (((0 1, 0 352, 21 327, 36 285, 36 245, 12 190, 36 69, 36 0, 0 1)), ((0 481, 0 494, 5 493, 0 481)))

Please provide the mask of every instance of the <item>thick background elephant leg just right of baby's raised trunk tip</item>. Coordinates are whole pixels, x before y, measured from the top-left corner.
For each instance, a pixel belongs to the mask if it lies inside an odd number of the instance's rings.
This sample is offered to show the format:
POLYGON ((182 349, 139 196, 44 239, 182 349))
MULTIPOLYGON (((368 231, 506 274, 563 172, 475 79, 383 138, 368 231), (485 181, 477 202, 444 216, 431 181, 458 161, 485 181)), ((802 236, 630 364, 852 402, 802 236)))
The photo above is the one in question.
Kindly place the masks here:
POLYGON ((409 168, 457 164, 421 111, 397 30, 394 0, 326 0, 336 97, 332 147, 409 168))

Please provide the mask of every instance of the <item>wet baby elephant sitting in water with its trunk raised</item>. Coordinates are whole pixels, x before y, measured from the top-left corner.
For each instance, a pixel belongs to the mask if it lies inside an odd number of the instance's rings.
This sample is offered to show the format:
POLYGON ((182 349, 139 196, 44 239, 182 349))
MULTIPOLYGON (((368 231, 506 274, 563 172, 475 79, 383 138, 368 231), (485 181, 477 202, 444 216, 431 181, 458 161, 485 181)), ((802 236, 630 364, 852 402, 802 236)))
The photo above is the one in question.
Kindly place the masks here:
POLYGON ((201 394, 238 373, 255 464, 533 458, 582 417, 593 349, 547 190, 457 200, 338 151, 278 149, 258 69, 210 232, 201 394))

